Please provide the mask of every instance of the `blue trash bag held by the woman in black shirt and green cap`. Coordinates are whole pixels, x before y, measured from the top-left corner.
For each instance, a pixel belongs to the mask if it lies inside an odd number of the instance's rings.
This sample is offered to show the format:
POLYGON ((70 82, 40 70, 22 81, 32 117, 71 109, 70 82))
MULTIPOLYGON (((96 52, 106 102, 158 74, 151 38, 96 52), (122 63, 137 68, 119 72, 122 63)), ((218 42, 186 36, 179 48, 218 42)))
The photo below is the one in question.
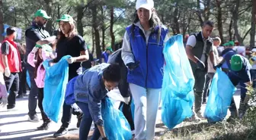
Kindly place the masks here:
POLYGON ((69 80, 69 64, 67 55, 54 64, 49 66, 49 61, 43 61, 43 67, 46 70, 43 88, 43 110, 47 117, 54 122, 58 122, 59 113, 62 109, 65 98, 66 85, 69 80))

